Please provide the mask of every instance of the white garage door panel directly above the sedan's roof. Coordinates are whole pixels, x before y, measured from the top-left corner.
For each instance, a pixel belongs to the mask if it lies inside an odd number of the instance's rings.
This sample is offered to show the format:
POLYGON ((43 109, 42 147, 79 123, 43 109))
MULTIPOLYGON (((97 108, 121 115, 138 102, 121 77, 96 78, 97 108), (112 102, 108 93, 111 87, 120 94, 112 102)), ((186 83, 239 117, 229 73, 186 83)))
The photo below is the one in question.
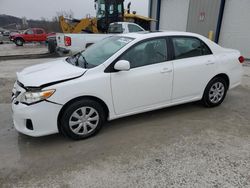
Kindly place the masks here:
POLYGON ((186 31, 189 0, 162 0, 160 30, 186 31))

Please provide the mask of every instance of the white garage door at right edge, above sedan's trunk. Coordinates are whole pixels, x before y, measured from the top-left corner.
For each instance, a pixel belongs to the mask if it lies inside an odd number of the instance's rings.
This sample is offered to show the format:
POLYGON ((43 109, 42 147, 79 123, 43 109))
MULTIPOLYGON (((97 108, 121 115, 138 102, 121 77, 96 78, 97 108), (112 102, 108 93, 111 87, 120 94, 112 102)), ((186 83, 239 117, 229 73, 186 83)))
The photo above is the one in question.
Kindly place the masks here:
POLYGON ((219 44, 250 58, 250 0, 227 0, 219 44))

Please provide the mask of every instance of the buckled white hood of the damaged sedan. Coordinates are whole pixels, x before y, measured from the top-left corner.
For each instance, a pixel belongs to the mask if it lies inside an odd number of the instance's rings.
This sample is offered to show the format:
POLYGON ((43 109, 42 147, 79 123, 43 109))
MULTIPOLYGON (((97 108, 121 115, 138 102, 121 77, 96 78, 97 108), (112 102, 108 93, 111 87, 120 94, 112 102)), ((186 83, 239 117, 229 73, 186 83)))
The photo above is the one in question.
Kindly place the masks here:
POLYGON ((80 77, 86 71, 69 64, 64 58, 27 67, 17 73, 17 80, 25 87, 44 87, 80 77))

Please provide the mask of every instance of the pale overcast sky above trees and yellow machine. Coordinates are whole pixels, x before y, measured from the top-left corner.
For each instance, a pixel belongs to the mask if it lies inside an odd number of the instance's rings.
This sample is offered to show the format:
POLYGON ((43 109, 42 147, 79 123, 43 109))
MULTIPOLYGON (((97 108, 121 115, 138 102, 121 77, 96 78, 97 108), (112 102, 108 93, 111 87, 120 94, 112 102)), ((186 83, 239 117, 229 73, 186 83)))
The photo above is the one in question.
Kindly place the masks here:
MULTIPOLYGON (((131 10, 148 16, 149 0, 125 0, 125 7, 131 2, 131 10)), ((56 12, 72 10, 74 18, 84 18, 88 13, 95 16, 94 0, 0 0, 0 14, 28 19, 51 19, 56 12)))

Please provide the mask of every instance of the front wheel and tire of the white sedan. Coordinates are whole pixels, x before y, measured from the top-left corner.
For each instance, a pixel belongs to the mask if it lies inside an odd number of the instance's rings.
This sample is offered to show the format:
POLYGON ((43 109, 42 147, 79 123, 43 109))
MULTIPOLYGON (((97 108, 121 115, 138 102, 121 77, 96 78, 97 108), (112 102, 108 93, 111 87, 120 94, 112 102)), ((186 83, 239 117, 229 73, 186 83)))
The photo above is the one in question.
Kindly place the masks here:
POLYGON ((59 119, 61 132, 74 140, 97 134, 105 122, 105 111, 98 102, 82 99, 66 107, 59 119))

